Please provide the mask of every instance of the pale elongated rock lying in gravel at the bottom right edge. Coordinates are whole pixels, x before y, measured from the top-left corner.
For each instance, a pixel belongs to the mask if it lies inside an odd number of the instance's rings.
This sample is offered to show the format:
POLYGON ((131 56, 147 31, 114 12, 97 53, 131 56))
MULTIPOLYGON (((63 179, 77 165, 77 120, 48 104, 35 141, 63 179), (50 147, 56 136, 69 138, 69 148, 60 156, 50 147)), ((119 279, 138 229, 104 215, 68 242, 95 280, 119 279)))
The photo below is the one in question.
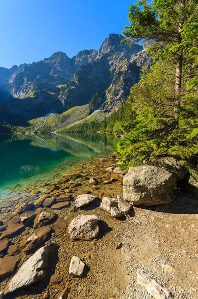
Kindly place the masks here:
POLYGON ((146 272, 140 269, 137 271, 137 282, 155 299, 169 299, 172 296, 167 288, 161 287, 154 279, 151 279, 146 272))

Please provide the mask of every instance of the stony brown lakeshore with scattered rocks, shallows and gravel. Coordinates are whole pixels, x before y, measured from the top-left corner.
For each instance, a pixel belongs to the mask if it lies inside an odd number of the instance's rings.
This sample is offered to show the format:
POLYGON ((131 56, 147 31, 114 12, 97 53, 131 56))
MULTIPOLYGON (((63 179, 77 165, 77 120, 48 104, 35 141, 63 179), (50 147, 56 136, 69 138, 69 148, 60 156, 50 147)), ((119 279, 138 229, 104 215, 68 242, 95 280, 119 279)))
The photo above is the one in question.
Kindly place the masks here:
POLYGON ((92 159, 0 199, 3 298, 197 299, 194 198, 132 206, 117 162, 92 159))

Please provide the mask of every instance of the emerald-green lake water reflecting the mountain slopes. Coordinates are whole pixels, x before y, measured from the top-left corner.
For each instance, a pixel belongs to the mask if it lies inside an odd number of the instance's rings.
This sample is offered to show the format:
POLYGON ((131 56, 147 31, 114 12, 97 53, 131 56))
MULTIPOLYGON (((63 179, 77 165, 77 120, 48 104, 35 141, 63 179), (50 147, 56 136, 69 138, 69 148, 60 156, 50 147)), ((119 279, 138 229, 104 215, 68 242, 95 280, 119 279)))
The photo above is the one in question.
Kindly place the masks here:
POLYGON ((117 142, 99 134, 0 136, 0 189, 69 172, 86 159, 111 154, 117 142))

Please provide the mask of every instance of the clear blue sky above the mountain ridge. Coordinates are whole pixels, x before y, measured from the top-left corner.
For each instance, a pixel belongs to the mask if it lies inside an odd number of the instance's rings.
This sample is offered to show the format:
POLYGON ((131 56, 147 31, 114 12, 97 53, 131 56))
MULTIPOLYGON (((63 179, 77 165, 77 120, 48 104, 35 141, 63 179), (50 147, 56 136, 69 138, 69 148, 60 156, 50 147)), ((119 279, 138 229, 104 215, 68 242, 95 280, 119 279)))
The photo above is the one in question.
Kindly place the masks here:
POLYGON ((37 62, 56 51, 99 49, 128 24, 131 0, 0 0, 0 66, 37 62))

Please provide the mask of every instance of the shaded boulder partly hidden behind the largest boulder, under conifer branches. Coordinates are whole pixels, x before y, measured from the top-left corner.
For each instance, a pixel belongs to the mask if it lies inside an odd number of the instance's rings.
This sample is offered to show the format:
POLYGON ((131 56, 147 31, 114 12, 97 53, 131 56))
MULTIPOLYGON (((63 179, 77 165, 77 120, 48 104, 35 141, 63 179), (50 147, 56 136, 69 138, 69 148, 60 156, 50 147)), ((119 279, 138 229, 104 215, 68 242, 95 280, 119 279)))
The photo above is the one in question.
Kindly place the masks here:
POLYGON ((188 168, 182 166, 173 156, 153 156, 144 160, 145 165, 153 165, 165 168, 171 172, 176 180, 184 179, 189 181, 190 173, 188 168))

